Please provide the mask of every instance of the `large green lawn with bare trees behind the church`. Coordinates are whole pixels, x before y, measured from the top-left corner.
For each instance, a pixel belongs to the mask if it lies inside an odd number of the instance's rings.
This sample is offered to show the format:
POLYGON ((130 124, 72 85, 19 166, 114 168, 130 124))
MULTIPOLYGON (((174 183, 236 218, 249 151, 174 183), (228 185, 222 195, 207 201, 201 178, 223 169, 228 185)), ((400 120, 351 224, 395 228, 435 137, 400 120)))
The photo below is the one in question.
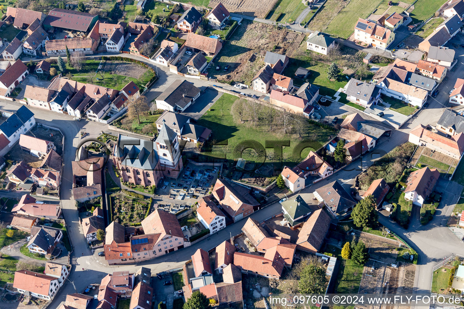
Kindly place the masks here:
MULTIPOLYGON (((216 140, 218 143, 228 143, 227 149, 230 151, 225 151, 225 148, 222 146, 214 146, 211 151, 201 152, 201 155, 205 155, 212 158, 227 158, 229 160, 234 160, 238 157, 239 154, 236 151, 232 151, 236 146, 241 142, 246 140, 251 140, 253 143, 256 141, 261 145, 265 145, 266 140, 288 140, 290 146, 284 147, 283 149, 283 158, 284 164, 293 166, 294 164, 301 162, 305 158, 311 147, 320 148, 330 136, 335 136, 336 132, 329 128, 318 127, 315 124, 308 123, 307 130, 303 132, 302 139, 298 140, 298 134, 296 133, 287 133, 283 134, 279 127, 281 123, 275 118, 273 122, 273 129, 269 131, 269 126, 263 123, 258 123, 257 126, 254 126, 251 121, 245 121, 245 124, 241 124, 233 119, 231 114, 232 104, 238 100, 237 96, 223 94, 213 105, 210 111, 206 112, 200 120, 198 120, 198 125, 205 126, 213 131, 210 140, 216 140), (276 132, 274 134, 273 132, 276 132), (314 143, 314 141, 316 143, 314 143), (308 145, 308 148, 304 148, 301 152, 301 155, 296 151, 294 153, 295 146, 300 143, 305 143, 308 145), (224 157, 225 156, 225 157, 224 157)), ((246 120, 246 118, 244 118, 246 120)), ((222 144, 225 145, 225 144, 222 144)), ((250 144, 246 144, 250 145, 250 144)), ((300 144, 301 145, 301 144, 300 144)), ((266 150, 266 153, 272 152, 271 149, 266 150)), ((257 157, 253 154, 248 154, 247 151, 244 151, 242 157, 247 161, 251 162, 263 162, 262 157, 257 157)), ((205 158, 208 159, 208 158, 205 158)), ((266 163, 272 164, 275 162, 275 159, 266 159, 266 163)), ((269 165, 267 165, 269 166, 269 165)))

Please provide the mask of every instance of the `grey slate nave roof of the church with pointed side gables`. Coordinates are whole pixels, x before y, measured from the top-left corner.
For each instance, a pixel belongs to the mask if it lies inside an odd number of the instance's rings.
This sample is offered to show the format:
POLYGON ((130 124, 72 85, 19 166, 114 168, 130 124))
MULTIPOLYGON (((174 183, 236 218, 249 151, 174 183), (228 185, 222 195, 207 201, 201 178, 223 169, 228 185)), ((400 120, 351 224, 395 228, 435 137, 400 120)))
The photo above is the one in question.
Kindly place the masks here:
POLYGON ((121 158, 125 166, 143 170, 155 170, 158 164, 158 153, 153 141, 135 139, 121 134, 117 138, 114 156, 121 158))

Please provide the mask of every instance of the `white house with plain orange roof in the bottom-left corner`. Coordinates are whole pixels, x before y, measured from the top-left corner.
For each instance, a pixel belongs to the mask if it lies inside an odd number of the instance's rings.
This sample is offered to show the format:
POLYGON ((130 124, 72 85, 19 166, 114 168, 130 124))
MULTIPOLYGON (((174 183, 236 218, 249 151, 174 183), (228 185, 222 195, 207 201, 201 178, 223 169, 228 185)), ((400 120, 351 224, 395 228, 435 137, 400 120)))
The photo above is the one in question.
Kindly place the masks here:
POLYGON ((58 278, 34 271, 20 270, 14 272, 13 288, 19 293, 29 292, 32 297, 52 300, 58 289, 58 278))

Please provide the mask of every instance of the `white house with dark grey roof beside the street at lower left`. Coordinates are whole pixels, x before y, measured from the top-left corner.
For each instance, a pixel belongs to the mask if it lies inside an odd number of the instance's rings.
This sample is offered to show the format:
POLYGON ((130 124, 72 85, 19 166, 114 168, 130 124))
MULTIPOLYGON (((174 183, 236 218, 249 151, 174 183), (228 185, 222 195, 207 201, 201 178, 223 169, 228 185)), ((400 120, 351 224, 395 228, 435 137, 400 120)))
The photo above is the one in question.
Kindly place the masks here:
POLYGON ((63 231, 54 227, 33 226, 27 249, 31 253, 50 256, 63 238, 63 231))

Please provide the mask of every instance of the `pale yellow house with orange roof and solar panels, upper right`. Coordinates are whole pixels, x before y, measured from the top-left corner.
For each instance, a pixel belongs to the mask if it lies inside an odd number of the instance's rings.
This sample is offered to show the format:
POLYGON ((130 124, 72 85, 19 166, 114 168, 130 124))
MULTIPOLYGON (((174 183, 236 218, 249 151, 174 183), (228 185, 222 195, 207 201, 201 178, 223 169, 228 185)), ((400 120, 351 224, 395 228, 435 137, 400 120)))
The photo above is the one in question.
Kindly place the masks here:
POLYGON ((354 27, 354 39, 385 50, 394 41, 395 34, 390 29, 360 18, 354 27))

